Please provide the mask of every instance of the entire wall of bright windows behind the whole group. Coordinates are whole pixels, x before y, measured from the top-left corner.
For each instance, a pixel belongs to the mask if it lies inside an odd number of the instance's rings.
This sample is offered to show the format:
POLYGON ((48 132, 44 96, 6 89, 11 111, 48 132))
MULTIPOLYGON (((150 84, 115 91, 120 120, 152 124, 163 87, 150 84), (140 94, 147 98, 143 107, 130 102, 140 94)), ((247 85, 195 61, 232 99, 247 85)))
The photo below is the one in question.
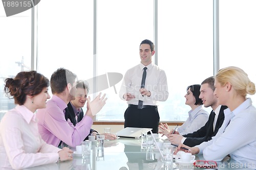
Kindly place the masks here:
MULTIPOLYGON (((254 83, 255 5, 254 0, 219 3, 219 66, 239 66, 254 83)), ((37 52, 35 68, 49 79, 57 68, 65 67, 78 79, 88 80, 108 72, 124 75, 140 62, 140 42, 152 40, 158 52, 153 60, 165 70, 169 89, 168 100, 159 102, 161 122, 186 120, 190 110, 184 104, 186 87, 214 75, 214 9, 210 0, 40 1, 34 8, 35 22, 31 10, 6 17, 0 6, 0 21, 5 26, 0 32, 0 56, 8 58, 0 63, 2 113, 14 107, 13 100, 3 93, 4 80, 31 69, 33 50, 37 52), (31 49, 31 23, 37 29, 37 49, 31 49)), ((127 104, 118 96, 121 83, 101 91, 108 101, 97 121, 124 120, 127 104)), ((249 97, 256 100, 254 95, 249 97)))

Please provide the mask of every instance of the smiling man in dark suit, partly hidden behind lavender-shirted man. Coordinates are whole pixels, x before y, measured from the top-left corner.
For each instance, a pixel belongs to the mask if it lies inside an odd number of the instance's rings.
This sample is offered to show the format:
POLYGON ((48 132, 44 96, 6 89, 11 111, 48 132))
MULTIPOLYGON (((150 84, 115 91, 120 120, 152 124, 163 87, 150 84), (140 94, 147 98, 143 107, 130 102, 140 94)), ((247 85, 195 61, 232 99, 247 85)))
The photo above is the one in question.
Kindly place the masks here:
MULTIPOLYGON (((66 120, 69 118, 74 126, 76 126, 76 124, 83 118, 82 107, 86 104, 88 91, 88 82, 82 80, 76 82, 75 100, 69 102, 68 111, 65 113, 66 120)), ((91 129, 88 136, 96 136, 97 134, 97 131, 91 129)), ((105 136, 105 139, 116 139, 115 135, 109 133, 103 133, 102 135, 105 136)), ((84 140, 88 140, 88 136, 84 140)))

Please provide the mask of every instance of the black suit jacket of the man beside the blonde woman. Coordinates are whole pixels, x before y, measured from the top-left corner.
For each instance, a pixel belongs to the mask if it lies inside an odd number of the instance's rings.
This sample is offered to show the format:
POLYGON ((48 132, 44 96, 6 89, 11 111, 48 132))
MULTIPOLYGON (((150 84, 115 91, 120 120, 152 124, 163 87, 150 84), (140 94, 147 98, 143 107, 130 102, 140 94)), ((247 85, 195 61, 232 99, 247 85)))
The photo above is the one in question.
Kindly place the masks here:
POLYGON ((224 110, 226 108, 227 106, 221 106, 220 113, 218 115, 218 119, 216 122, 215 130, 213 129, 215 114, 213 113, 213 110, 212 110, 210 112, 208 121, 202 128, 200 128, 196 132, 183 135, 184 137, 186 137, 183 144, 188 145, 189 147, 194 147, 195 145, 201 144, 204 141, 211 140, 211 137, 217 134, 217 132, 219 131, 220 127, 223 124, 224 110))

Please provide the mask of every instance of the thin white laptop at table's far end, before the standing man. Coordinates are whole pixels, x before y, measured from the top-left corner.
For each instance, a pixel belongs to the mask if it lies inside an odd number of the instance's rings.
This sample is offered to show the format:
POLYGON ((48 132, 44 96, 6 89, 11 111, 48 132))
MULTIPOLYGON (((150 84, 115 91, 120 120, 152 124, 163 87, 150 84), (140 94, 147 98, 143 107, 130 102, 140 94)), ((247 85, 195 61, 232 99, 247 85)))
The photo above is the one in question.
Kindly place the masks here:
POLYGON ((124 128, 117 132, 117 136, 126 137, 126 138, 139 138, 141 136, 141 131, 147 130, 148 132, 152 130, 152 128, 124 128))

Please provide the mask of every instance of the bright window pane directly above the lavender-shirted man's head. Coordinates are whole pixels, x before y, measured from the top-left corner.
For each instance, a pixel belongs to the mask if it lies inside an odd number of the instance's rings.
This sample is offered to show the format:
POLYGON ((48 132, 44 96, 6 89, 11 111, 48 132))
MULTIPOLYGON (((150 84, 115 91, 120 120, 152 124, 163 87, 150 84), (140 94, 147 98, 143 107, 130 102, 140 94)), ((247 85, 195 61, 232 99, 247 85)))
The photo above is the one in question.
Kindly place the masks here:
POLYGON ((41 1, 38 5, 38 71, 57 68, 78 79, 93 77, 93 1, 41 1))

